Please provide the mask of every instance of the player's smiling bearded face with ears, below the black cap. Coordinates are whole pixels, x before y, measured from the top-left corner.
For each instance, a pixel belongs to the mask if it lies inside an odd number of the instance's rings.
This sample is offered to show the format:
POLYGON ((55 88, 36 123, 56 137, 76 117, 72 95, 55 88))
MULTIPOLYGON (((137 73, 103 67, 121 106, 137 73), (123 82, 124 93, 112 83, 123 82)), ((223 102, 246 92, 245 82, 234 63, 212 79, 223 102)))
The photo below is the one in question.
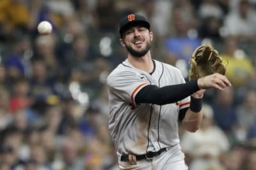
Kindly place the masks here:
POLYGON ((147 28, 135 26, 127 29, 121 39, 122 45, 134 57, 143 57, 151 48, 153 33, 147 28))

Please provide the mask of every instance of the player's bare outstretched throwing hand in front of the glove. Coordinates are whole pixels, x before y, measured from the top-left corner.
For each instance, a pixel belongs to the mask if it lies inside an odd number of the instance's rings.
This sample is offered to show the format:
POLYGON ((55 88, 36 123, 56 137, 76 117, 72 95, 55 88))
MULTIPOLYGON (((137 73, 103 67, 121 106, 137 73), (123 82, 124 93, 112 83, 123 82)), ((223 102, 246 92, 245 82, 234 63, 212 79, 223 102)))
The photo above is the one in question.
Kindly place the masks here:
POLYGON ((218 90, 224 90, 225 87, 231 86, 231 83, 228 81, 227 77, 219 73, 214 73, 209 76, 198 78, 197 83, 200 89, 214 88, 218 90))

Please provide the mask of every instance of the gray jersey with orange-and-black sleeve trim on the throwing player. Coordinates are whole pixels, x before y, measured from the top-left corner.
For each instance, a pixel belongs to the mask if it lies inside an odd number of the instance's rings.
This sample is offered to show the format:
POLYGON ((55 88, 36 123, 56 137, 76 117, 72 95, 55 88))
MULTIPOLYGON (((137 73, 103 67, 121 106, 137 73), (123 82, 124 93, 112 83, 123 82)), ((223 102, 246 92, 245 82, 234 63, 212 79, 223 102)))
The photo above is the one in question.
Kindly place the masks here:
POLYGON ((179 110, 189 106, 189 97, 163 106, 134 102, 136 94, 147 85, 164 87, 185 83, 179 69, 154 62, 155 69, 148 74, 126 59, 108 76, 109 133, 118 155, 141 155, 179 144, 179 110))

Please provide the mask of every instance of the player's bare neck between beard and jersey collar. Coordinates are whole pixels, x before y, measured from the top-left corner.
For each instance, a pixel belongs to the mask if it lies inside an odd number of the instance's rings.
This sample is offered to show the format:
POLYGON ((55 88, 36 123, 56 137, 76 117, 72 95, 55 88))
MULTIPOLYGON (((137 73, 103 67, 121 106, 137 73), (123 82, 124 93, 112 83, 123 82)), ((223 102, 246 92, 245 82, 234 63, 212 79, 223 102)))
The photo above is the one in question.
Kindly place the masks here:
POLYGON ((151 73, 154 70, 154 64, 152 62, 150 51, 148 51, 148 53, 143 57, 134 57, 132 55, 128 55, 128 60, 132 66, 147 73, 151 73))

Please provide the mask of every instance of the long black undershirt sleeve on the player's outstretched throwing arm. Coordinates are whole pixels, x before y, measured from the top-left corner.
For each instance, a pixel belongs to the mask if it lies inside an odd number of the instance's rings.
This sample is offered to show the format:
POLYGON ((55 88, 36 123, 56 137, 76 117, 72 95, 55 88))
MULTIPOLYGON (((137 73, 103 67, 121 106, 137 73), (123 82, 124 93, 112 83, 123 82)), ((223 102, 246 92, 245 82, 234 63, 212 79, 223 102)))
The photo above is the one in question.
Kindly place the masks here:
POLYGON ((136 104, 168 104, 180 101, 194 92, 200 90, 197 80, 188 81, 178 85, 168 85, 157 87, 156 85, 147 85, 141 89, 135 97, 136 104))

